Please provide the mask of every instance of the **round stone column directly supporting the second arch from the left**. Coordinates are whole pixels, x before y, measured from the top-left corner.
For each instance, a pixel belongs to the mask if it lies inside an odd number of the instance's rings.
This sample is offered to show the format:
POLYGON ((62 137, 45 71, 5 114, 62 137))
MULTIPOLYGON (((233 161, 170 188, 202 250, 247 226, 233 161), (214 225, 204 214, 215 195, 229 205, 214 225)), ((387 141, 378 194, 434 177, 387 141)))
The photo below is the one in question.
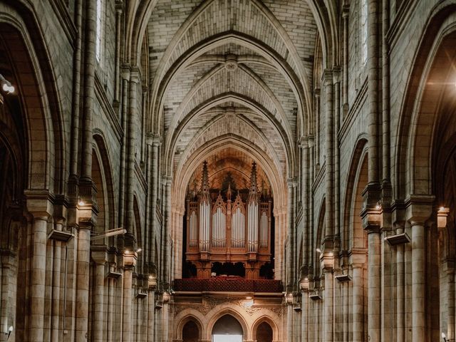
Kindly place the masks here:
POLYGON ((108 261, 106 252, 95 250, 92 252, 92 259, 95 261, 95 296, 93 299, 93 341, 103 342, 103 316, 105 296, 105 264, 108 261))

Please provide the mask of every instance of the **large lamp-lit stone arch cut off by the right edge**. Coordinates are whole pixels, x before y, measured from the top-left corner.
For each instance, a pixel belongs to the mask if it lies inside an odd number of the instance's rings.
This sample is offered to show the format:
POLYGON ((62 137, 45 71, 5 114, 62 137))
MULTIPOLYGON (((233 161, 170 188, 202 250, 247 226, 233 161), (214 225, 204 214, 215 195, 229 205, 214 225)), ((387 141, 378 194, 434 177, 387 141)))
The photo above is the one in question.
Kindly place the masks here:
POLYGON ((441 97, 450 74, 446 66, 451 58, 445 51, 455 46, 455 18, 455 1, 435 6, 415 53, 396 134, 394 195, 398 198, 432 194, 432 137, 440 105, 435 98, 441 97))

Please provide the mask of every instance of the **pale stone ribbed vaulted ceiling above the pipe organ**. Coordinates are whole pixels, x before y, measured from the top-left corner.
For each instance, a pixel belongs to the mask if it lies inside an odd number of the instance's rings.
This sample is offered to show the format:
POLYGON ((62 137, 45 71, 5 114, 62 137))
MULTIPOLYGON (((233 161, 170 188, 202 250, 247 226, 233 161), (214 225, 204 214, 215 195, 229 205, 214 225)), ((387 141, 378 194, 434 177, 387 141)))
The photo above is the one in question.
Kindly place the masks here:
POLYGON ((239 174, 259 163, 281 192, 308 124, 316 39, 306 1, 158 0, 147 26, 150 118, 165 172, 188 184, 223 153, 239 174))

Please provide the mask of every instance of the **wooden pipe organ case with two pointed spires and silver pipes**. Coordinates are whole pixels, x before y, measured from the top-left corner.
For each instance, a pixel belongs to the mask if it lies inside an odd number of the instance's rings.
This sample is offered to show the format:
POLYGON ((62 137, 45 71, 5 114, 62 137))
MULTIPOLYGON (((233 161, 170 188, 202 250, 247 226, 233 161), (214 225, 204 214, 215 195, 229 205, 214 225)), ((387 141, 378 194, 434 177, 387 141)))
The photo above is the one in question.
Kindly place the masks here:
POLYGON ((231 185, 209 189, 204 162, 199 192, 187 195, 185 258, 196 266, 192 276, 230 276, 223 265, 231 265, 244 279, 267 278, 264 271, 261 274, 262 266, 270 267, 272 277, 271 205, 271 194, 259 193, 255 162, 249 189, 237 190, 236 195, 231 185))

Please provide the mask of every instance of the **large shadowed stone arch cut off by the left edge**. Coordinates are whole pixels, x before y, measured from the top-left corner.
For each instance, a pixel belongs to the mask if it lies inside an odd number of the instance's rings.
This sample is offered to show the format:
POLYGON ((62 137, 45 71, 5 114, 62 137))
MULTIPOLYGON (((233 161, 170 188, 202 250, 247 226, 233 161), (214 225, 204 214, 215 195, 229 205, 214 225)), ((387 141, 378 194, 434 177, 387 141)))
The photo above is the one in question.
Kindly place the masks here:
POLYGON ((16 58, 6 57, 26 126, 26 187, 59 193, 66 180, 63 119, 53 68, 37 23, 33 10, 24 4, 0 4, 0 39, 11 55, 14 51, 15 56, 24 56, 20 65, 16 58))

